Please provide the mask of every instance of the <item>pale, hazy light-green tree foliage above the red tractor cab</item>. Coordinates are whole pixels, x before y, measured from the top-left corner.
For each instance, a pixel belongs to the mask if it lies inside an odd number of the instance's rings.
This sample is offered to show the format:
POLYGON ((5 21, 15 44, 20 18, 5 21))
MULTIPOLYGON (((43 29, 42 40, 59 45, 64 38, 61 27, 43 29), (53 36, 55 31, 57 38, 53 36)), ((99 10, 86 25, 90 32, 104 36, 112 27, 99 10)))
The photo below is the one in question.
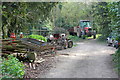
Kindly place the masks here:
POLYGON ((55 26, 65 29, 78 26, 80 20, 89 19, 89 11, 87 4, 82 2, 58 4, 52 12, 55 26))

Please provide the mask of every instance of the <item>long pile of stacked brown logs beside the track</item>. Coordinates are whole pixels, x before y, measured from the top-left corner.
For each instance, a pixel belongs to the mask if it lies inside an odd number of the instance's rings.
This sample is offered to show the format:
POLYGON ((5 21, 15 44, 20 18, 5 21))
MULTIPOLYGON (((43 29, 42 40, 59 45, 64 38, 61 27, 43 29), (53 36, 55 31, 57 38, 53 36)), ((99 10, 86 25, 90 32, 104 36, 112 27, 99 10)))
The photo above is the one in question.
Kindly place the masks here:
MULTIPOLYGON (((52 52, 54 46, 47 43, 39 43, 32 39, 26 40, 2 40, 2 57, 7 57, 9 54, 13 54, 20 61, 35 61, 36 51, 40 54, 52 52), (31 40, 31 41, 29 41, 31 40), (37 42, 37 44, 36 44, 37 42), (39 43, 39 44, 38 44, 39 43)), ((37 53, 37 55, 39 55, 37 53)))

